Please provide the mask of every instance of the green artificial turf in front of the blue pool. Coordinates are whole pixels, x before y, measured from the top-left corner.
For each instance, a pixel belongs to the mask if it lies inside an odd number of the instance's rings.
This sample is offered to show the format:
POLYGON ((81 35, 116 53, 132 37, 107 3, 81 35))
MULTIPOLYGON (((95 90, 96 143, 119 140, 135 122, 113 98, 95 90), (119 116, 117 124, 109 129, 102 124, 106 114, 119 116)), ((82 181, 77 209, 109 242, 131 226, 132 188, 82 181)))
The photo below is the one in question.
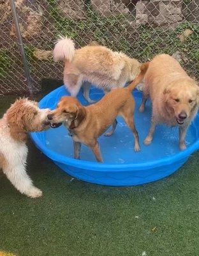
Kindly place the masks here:
MULTIPOLYGON (((0 98, 1 113, 14 98, 0 98)), ((198 153, 163 180, 112 188, 71 179, 28 144, 43 196, 20 195, 0 173, 0 256, 199 254, 198 153)))

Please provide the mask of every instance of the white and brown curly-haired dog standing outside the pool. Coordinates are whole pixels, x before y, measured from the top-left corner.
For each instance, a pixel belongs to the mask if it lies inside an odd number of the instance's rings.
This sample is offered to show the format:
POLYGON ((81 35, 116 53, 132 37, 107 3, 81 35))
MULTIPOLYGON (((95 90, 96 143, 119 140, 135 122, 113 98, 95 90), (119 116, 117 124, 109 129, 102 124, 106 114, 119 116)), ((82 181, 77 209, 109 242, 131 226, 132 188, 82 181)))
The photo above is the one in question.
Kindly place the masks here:
POLYGON ((49 127, 49 109, 27 99, 16 100, 0 120, 0 167, 20 193, 36 198, 42 195, 26 173, 27 132, 49 127))

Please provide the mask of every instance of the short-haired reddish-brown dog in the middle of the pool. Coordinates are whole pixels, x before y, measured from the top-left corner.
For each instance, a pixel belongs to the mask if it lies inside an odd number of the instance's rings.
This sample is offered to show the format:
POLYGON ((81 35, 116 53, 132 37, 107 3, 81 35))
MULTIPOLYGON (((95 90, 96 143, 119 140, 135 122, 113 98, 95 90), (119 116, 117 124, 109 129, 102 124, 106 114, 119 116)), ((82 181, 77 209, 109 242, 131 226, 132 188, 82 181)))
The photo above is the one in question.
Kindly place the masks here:
MULTIPOLYGON (((99 102, 91 106, 82 106, 75 97, 66 96, 61 98, 57 108, 48 115, 48 120, 50 120, 52 127, 57 127, 57 124, 64 124, 71 132, 76 159, 79 159, 81 143, 84 143, 91 148, 97 161, 102 161, 98 137, 113 124, 117 115, 124 118, 133 132, 135 151, 140 150, 138 132, 133 119, 135 100, 131 92, 142 81, 147 67, 148 63, 141 66, 140 74, 128 87, 112 89, 99 102)), ((112 132, 114 132, 114 129, 112 132)), ((111 135, 112 132, 107 135, 111 135)))

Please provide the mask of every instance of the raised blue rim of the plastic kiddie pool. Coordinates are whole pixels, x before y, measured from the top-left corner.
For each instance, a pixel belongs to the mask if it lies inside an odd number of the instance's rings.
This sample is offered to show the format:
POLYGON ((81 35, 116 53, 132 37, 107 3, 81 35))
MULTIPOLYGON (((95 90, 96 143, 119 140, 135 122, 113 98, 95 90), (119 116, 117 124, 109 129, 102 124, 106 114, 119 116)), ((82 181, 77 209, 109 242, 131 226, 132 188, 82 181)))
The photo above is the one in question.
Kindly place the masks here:
MULTIPOLYGON (((52 92, 45 95, 39 102, 40 108, 43 108, 43 104, 46 98, 48 98, 50 95, 55 94, 56 92, 59 92, 61 88, 64 86, 60 86, 59 88, 53 90, 52 92)), ((199 114, 198 114, 199 115, 199 114)), ((195 118, 198 118, 198 115, 195 118)), ((193 120, 192 125, 194 125, 195 121, 193 120)), ((45 131, 43 131, 45 132, 45 131)), ((33 143, 38 147, 47 157, 52 159, 55 162, 59 162, 61 164, 70 165, 76 168, 81 168, 85 170, 95 170, 100 172, 125 172, 125 171, 133 171, 133 170, 149 170, 151 168, 157 168, 159 166, 165 166, 170 165, 173 163, 176 163, 178 161, 181 161, 181 159, 188 158, 193 152, 199 149, 199 139, 195 141, 192 145, 190 145, 185 150, 182 150, 181 152, 177 152, 176 154, 168 157, 163 157, 158 160, 153 160, 149 162, 144 163, 128 163, 128 164, 110 164, 110 163, 98 163, 98 162, 91 162, 91 161, 85 161, 85 160, 78 160, 73 159, 71 157, 64 156, 62 154, 59 154, 53 150, 50 150, 45 146, 44 143, 40 140, 38 136, 38 132, 31 132, 30 134, 31 139, 33 140, 33 143)), ((152 145, 149 145, 148 147, 151 147, 152 145)), ((135 152, 136 154, 136 152, 135 152)))

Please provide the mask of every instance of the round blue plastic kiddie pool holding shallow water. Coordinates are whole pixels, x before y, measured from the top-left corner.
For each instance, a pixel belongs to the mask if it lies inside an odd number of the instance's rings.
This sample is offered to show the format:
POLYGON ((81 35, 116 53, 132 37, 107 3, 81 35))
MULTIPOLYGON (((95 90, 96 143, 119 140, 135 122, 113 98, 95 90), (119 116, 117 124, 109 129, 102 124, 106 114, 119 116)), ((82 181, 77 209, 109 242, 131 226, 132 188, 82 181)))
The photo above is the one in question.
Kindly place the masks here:
MULTIPOLYGON (((57 102, 64 95, 69 95, 64 86, 48 93, 40 101, 40 108, 54 109, 57 102)), ((91 99, 99 100, 103 92, 91 88, 91 99)), ((132 186, 162 179, 175 172, 187 160, 190 154, 199 148, 199 115, 191 124, 186 136, 188 148, 179 150, 179 136, 177 127, 159 125, 154 133, 151 145, 143 144, 149 131, 151 121, 151 103, 147 102, 144 113, 138 112, 142 93, 135 90, 136 100, 135 124, 140 136, 140 152, 134 152, 133 134, 122 118, 118 117, 117 128, 110 137, 101 136, 99 145, 103 156, 103 163, 97 163, 91 150, 82 145, 80 159, 73 158, 73 141, 68 131, 61 125, 56 129, 31 133, 36 147, 54 161, 64 172, 87 182, 108 186, 132 186)), ((87 105, 78 94, 82 104, 87 105)))

